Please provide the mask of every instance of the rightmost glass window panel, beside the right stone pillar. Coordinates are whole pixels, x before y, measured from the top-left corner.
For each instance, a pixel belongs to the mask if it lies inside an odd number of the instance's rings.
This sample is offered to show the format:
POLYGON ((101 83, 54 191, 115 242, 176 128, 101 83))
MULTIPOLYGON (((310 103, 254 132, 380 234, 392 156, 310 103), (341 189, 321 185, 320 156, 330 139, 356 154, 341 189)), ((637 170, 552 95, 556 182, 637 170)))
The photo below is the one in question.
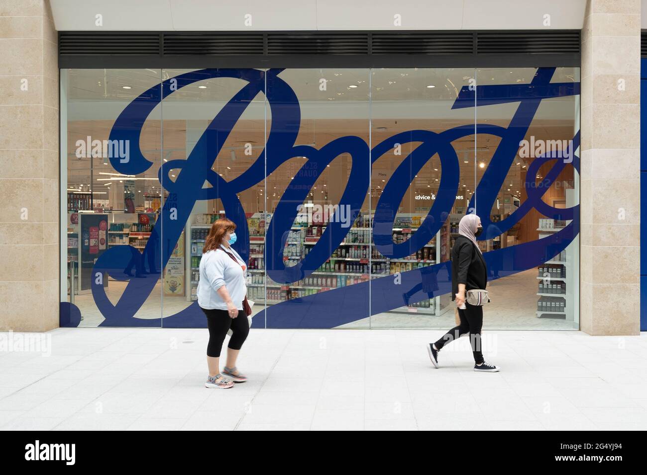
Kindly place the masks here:
POLYGON ((477 70, 484 328, 578 328, 579 74, 477 70))

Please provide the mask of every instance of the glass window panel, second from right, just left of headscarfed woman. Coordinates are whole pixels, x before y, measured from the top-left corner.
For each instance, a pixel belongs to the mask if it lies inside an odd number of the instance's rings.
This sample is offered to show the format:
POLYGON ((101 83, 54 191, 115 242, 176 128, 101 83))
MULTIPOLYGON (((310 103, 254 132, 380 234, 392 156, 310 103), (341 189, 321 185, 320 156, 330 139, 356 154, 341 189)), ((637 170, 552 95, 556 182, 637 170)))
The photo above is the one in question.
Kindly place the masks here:
POLYGON ((372 328, 450 328, 448 264, 474 190, 474 110, 452 109, 474 69, 371 72, 372 328))

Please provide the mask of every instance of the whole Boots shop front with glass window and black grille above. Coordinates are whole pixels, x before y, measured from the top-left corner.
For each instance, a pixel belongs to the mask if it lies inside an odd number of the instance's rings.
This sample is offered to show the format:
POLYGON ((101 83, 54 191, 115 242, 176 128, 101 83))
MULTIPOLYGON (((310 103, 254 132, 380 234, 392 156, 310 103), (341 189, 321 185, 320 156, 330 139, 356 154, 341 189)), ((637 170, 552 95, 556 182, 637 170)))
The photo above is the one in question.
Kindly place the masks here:
POLYGON ((578 330, 580 31, 60 32, 61 326, 206 326, 226 216, 256 328, 578 330), (67 186, 64 186, 67 184, 67 186))

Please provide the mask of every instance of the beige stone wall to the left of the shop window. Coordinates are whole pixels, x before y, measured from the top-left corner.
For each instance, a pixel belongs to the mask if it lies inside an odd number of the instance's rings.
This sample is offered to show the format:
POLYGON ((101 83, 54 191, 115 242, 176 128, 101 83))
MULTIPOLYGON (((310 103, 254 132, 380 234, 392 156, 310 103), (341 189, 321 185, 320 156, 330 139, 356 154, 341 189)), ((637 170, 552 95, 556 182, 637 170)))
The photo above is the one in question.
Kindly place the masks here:
POLYGON ((56 43, 49 2, 0 1, 0 331, 58 327, 56 43))

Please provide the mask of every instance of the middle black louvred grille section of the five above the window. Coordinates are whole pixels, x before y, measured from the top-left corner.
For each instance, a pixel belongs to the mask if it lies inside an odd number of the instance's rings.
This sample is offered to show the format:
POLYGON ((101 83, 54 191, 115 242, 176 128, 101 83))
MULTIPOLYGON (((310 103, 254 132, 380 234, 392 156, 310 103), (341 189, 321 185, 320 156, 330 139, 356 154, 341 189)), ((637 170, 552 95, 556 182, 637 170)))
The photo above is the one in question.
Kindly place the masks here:
POLYGON ((267 54, 369 54, 368 33, 267 34, 267 54))

